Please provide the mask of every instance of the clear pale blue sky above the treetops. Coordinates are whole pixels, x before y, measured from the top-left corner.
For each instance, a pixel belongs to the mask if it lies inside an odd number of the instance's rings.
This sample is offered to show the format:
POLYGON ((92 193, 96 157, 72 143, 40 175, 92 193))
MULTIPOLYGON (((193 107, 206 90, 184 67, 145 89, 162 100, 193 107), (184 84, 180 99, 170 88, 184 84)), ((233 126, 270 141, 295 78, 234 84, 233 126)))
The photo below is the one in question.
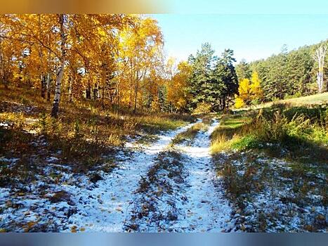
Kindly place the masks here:
POLYGON ((328 14, 195 14, 190 11, 152 15, 152 18, 162 28, 167 56, 178 60, 186 60, 204 42, 211 43, 217 55, 225 48, 232 48, 239 62, 242 58, 247 61, 267 58, 279 53, 284 44, 290 51, 328 39, 328 14))

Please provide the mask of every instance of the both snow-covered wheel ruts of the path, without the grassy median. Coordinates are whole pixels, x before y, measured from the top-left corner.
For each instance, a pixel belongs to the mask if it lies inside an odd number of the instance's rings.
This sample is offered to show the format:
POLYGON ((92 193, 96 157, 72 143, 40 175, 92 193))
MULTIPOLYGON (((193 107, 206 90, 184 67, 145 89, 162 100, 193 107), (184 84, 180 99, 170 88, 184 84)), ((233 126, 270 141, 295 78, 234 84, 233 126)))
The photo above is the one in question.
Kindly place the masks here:
MULTIPOLYGON (((185 199, 175 198, 173 201, 164 195, 162 199, 166 202, 158 205, 158 209, 170 210, 167 203, 171 205, 174 202, 173 207, 178 211, 176 218, 167 224, 167 221, 156 221, 155 224, 161 224, 160 228, 152 226, 150 218, 143 218, 136 221, 137 231, 202 232, 225 231, 231 228, 231 209, 228 201, 223 198, 223 188, 216 179, 209 153, 209 137, 217 125, 218 122, 214 121, 206 131, 199 132, 191 145, 178 145, 185 162, 185 181, 181 186, 176 186, 176 198, 185 199)), ((133 209, 143 209, 144 206, 140 199, 144 199, 145 195, 137 192, 140 179, 147 176, 147 171, 154 165, 159 154, 167 151, 172 138, 191 126, 192 124, 189 124, 159 136, 157 142, 150 146, 139 146, 141 149, 130 143, 127 148, 133 149, 133 155, 126 157, 122 153, 119 168, 98 181, 96 188, 90 190, 72 186, 73 190, 67 190, 74 194, 74 202, 79 208, 77 213, 70 216, 67 231, 77 225, 83 226, 86 231, 126 230, 124 226, 129 224, 133 209)), ((159 220, 161 218, 159 217, 159 220)))

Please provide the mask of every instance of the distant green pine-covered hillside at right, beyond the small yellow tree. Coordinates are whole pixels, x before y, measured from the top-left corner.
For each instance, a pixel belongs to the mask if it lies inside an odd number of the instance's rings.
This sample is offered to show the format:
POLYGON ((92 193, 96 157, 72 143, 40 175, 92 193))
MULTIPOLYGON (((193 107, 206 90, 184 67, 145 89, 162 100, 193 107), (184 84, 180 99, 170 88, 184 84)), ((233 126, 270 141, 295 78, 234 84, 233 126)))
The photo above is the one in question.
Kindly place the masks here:
MULTIPOLYGON (((317 48, 328 44, 328 40, 319 44, 302 46, 296 50, 287 51, 287 46, 282 51, 269 58, 247 63, 242 60, 236 65, 238 81, 250 79, 252 72, 258 72, 263 89, 263 101, 307 96, 317 93, 318 65, 313 59, 317 48)), ((328 58, 324 63, 324 91, 328 91, 328 58)))

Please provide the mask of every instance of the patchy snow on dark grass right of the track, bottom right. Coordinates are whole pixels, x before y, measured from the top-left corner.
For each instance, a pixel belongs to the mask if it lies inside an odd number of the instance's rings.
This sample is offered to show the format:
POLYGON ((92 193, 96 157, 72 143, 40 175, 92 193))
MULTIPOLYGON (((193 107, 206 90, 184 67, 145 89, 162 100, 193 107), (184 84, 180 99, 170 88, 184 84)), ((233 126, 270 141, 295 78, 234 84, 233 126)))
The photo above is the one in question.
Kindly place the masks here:
MULTIPOLYGON (((328 219, 327 207, 322 205, 323 196, 315 194, 317 190, 309 190, 303 195, 299 193, 299 188, 296 188, 297 182, 294 180, 299 178, 282 176, 282 172, 291 171, 289 162, 277 158, 269 159, 260 154, 256 162, 261 163, 263 167, 258 169, 258 174, 253 179, 256 179, 263 169, 269 170, 270 173, 266 174, 262 181, 263 190, 249 190, 249 194, 244 197, 242 206, 244 216, 239 213, 233 216, 237 221, 237 231, 244 227, 242 231, 299 232, 306 231, 305 226, 309 225, 317 226, 318 231, 327 231, 327 228, 324 229, 324 226, 320 225, 324 223, 324 219, 321 221, 317 219, 318 216, 325 218, 325 221, 328 219), (259 224, 263 222, 265 227, 259 228, 259 224)), ((237 170, 237 174, 244 173, 246 167, 241 164, 242 162, 231 163, 235 168, 240 169, 237 170)), ((310 184, 319 185, 317 182, 310 182, 310 184)))

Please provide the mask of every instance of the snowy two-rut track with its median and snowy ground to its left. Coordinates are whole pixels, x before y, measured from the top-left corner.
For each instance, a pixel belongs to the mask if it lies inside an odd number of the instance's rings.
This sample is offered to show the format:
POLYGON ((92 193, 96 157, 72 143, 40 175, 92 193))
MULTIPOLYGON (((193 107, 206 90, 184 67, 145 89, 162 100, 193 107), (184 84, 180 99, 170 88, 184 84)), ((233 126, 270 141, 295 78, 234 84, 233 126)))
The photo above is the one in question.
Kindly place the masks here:
POLYGON ((117 153, 117 167, 97 171, 96 182, 90 179, 95 171, 76 174, 48 157, 44 176, 24 198, 9 200, 11 190, 1 188, 0 202, 15 205, 4 210, 2 226, 27 231, 24 225, 37 221, 35 231, 230 231, 231 209, 209 153, 218 122, 200 131, 191 145, 171 145, 193 124, 158 135, 150 145, 127 143, 117 153), (54 174, 60 181, 45 186, 54 174), (145 180, 149 183, 140 192, 145 180))

